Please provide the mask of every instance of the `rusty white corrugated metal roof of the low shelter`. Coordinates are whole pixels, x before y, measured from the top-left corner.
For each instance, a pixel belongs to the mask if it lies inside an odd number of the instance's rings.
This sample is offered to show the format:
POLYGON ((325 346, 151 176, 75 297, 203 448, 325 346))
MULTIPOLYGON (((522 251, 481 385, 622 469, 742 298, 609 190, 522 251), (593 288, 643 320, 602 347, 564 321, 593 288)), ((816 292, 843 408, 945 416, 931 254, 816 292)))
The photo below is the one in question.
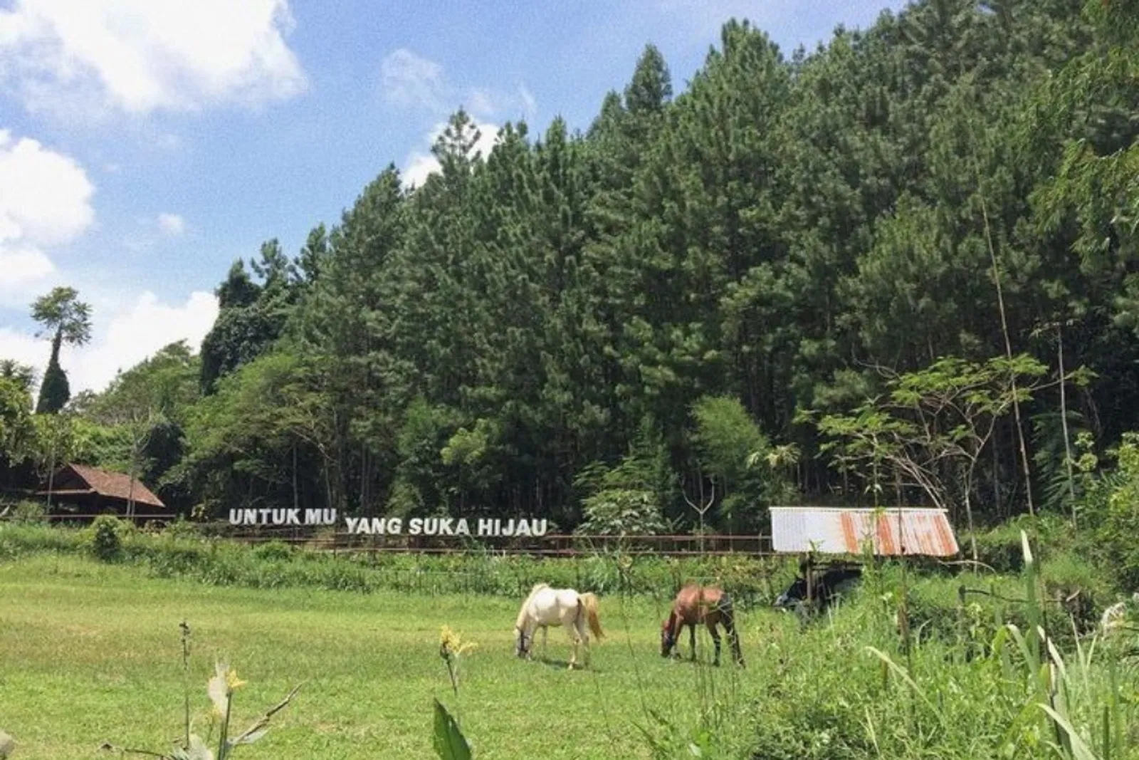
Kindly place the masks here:
POLYGON ((959 550, 944 509, 771 507, 776 551, 811 551, 813 542, 821 554, 861 554, 868 539, 879 556, 950 557, 959 550))

